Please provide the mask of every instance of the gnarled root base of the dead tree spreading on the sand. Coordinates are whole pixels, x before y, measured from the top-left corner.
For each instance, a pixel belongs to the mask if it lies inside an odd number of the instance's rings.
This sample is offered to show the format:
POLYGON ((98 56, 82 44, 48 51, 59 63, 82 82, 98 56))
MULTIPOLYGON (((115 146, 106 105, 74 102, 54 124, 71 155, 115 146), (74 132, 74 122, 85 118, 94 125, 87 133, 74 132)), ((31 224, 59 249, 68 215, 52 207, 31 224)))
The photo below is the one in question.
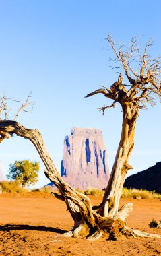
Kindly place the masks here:
POLYGON ((158 234, 149 234, 140 230, 135 230, 127 226, 125 218, 129 215, 129 212, 133 210, 133 204, 127 203, 123 205, 115 218, 102 217, 96 212, 92 211, 94 216, 94 226, 90 226, 83 218, 80 221, 75 222, 75 226, 63 234, 63 236, 74 238, 86 238, 88 240, 96 240, 99 238, 105 238, 109 240, 117 240, 119 236, 133 236, 146 237, 146 238, 161 238, 158 234))

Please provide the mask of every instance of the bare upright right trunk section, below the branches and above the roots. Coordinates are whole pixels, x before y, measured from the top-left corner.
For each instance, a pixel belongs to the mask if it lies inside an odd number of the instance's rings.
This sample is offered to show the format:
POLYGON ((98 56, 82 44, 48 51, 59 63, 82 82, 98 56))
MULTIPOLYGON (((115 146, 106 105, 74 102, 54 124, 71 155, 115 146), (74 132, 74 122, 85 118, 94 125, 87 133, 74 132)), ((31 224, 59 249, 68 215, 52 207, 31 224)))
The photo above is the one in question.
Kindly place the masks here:
POLYGON ((125 175, 132 168, 129 164, 129 156, 134 146, 135 124, 138 116, 138 109, 131 102, 123 102, 122 109, 123 126, 121 140, 103 198, 104 216, 112 218, 118 215, 119 200, 125 175))

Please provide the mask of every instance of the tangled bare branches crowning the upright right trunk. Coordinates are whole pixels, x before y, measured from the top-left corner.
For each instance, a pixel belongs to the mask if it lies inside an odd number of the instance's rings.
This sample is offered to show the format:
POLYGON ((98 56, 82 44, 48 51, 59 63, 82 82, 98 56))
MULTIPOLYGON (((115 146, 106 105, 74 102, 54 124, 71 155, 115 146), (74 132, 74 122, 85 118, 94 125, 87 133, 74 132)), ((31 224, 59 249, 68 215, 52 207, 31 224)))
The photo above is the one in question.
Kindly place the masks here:
POLYGON ((110 61, 119 63, 119 66, 112 65, 112 69, 122 69, 130 84, 123 82, 120 73, 117 82, 114 82, 110 88, 102 86, 102 89, 95 90, 86 97, 104 94, 106 98, 114 100, 112 105, 98 108, 103 114, 104 110, 115 106, 116 102, 122 107, 125 102, 131 102, 138 109, 145 109, 148 104, 154 106, 156 96, 161 100, 161 60, 160 57, 152 59, 148 55, 148 50, 153 45, 152 40, 149 40, 141 54, 141 44, 136 37, 131 39, 127 47, 121 43, 117 45, 110 34, 106 39, 115 56, 114 59, 110 58, 110 61), (129 87, 128 90, 126 87, 129 87))

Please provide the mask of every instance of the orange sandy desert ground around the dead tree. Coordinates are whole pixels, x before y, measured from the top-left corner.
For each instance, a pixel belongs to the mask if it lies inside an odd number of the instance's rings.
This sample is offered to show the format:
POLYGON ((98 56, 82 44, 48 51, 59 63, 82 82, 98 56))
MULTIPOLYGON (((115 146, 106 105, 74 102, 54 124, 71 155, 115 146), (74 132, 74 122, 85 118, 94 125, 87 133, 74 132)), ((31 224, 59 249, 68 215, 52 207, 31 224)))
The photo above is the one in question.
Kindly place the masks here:
MULTIPOLYGON (((92 205, 100 198, 92 197, 92 205)), ((161 234, 161 229, 149 228, 154 218, 161 218, 161 201, 123 199, 121 205, 133 203, 127 218, 132 228, 161 234)), ((73 225, 65 203, 45 193, 0 195, 0 256, 2 255, 161 255, 158 238, 119 238, 118 241, 88 241, 61 236, 73 225)))

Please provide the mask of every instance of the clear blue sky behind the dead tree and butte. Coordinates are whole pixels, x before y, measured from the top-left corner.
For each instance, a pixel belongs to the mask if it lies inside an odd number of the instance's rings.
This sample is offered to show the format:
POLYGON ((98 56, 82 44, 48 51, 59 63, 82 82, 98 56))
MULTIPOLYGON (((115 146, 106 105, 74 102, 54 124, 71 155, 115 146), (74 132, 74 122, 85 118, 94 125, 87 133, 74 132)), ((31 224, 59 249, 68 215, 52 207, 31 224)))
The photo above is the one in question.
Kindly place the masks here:
MULTIPOLYGON (((1 93, 26 98, 32 91, 33 114, 18 121, 38 128, 60 168, 63 140, 71 127, 102 129, 110 168, 121 133, 121 109, 97 107, 110 104, 102 95, 84 98, 99 84, 110 86, 117 74, 108 65, 108 33, 124 43, 132 36, 141 42, 154 38, 151 54, 161 55, 161 1, 96 0, 0 0, 0 87, 1 93)), ((141 111, 135 149, 128 174, 161 161, 160 104, 141 111)), ((30 141, 13 137, 0 146, 4 177, 15 160, 40 160, 30 141)), ((36 187, 48 183, 40 164, 36 187)))

